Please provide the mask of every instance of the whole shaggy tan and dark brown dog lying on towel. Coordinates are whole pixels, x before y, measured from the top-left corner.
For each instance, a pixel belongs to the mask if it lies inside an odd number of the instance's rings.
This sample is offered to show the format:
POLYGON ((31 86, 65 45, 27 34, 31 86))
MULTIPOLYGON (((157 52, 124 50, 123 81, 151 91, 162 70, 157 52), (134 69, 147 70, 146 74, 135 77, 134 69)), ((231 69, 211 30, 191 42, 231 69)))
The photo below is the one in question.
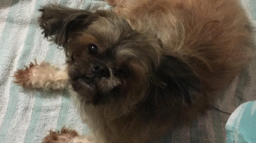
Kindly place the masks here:
POLYGON ((254 56, 236 0, 108 0, 89 12, 48 5, 39 24, 67 67, 31 63, 28 88, 68 89, 95 137, 62 129, 43 143, 145 143, 200 115, 254 56))

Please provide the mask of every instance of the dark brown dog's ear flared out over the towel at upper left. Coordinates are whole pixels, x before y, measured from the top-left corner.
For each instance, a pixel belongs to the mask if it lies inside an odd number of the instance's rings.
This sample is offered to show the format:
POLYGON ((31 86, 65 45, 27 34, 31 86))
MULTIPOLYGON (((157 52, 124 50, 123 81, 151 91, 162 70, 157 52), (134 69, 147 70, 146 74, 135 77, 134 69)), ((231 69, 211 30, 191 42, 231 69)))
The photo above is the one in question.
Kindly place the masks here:
POLYGON ((96 18, 92 12, 75 10, 66 7, 48 5, 39 9, 42 12, 38 19, 44 29, 43 34, 54 43, 65 47, 69 38, 77 30, 86 28, 96 18))

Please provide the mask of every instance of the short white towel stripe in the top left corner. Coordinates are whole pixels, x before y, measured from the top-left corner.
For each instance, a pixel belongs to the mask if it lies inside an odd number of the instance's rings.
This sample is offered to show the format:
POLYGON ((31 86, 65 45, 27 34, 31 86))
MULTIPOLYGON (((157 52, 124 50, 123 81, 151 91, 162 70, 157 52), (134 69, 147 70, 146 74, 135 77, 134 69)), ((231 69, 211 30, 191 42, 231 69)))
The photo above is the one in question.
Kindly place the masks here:
POLYGON ((7 20, 7 16, 8 16, 8 12, 10 10, 11 4, 12 4, 11 0, 6 0, 6 1, 3 1, 2 5, 0 6, 0 39, 4 31, 4 26, 6 24, 6 20, 7 20))

